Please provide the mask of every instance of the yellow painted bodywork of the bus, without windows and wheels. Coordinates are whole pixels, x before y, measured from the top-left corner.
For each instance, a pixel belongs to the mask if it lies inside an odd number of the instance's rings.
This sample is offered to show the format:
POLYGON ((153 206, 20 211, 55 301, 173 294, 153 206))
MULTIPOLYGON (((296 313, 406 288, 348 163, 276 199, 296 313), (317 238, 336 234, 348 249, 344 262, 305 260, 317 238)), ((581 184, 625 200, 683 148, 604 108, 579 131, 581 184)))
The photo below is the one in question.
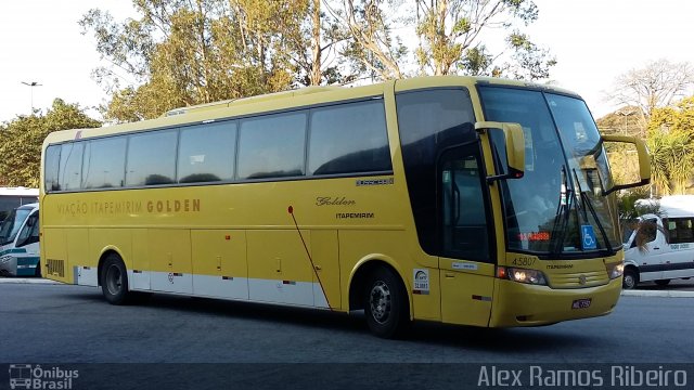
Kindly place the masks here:
MULTIPOLYGON (((393 173, 47 194, 42 170, 43 274, 63 283, 97 285, 100 261, 115 252, 123 258, 134 290, 347 312, 360 270, 381 262, 402 281, 410 316, 415 320, 527 326, 608 313, 618 299, 620 278, 602 277, 603 284, 581 288, 550 288, 496 277, 497 265, 511 266, 516 258, 506 255, 498 185, 489 186, 489 223, 496 226, 493 263, 439 258, 421 248, 402 168, 395 94, 466 88, 474 114, 483 120, 475 90, 480 81, 524 86, 519 81, 433 77, 359 88, 316 88, 179 108, 153 120, 53 132, 43 142, 43 154, 50 144, 77 139, 383 99, 393 173), (359 185, 359 180, 380 184, 359 185), (415 288, 417 273, 427 275, 426 288, 415 288), (567 307, 584 297, 593 300, 589 310, 567 307)), ((480 134, 479 144, 486 172, 493 174, 486 134, 480 134)), ((604 272, 604 264, 620 261, 619 256, 621 252, 615 259, 571 261, 571 275, 595 273, 601 266, 604 272)), ((541 271, 551 282, 569 283, 561 282, 562 270, 541 271)))

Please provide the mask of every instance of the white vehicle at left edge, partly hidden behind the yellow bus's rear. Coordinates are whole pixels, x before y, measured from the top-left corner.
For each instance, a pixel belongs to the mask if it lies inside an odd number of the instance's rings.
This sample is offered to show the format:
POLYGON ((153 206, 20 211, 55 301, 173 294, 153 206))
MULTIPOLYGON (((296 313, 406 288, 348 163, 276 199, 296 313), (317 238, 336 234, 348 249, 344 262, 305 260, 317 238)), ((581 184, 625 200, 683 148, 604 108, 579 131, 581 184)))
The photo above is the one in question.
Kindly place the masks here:
POLYGON ((41 275, 39 204, 20 206, 0 223, 0 275, 41 275))

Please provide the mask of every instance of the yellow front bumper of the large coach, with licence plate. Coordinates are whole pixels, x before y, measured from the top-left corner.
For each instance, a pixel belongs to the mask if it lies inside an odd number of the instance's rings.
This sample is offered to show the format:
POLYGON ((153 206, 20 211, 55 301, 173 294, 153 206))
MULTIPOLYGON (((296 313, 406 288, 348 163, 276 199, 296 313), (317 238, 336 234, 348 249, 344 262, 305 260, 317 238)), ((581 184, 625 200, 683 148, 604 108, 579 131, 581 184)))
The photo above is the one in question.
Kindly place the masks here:
POLYGON ((490 327, 540 326, 609 314, 621 294, 621 277, 586 288, 553 289, 498 280, 490 327))

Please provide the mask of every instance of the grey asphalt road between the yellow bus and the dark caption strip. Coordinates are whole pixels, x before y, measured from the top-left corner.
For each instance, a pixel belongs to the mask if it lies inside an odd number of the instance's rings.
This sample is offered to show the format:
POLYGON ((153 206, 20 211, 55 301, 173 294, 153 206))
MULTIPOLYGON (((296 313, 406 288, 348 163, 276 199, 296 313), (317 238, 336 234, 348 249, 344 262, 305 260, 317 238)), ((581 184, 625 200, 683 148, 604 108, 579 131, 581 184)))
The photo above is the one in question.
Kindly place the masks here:
POLYGON ((599 318, 515 329, 419 323, 394 341, 358 315, 164 295, 115 307, 93 287, 0 283, 0 362, 693 363, 692 318, 694 298, 622 297, 599 318))

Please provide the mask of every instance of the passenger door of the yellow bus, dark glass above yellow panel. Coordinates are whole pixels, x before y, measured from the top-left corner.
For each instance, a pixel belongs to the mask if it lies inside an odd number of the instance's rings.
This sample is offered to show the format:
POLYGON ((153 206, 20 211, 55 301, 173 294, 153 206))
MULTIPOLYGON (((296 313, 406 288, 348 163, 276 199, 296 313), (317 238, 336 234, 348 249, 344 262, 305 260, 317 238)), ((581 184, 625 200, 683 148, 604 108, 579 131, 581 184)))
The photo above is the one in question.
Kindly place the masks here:
POLYGON ((491 313, 493 229, 479 146, 445 152, 438 161, 441 320, 487 326, 491 313))

